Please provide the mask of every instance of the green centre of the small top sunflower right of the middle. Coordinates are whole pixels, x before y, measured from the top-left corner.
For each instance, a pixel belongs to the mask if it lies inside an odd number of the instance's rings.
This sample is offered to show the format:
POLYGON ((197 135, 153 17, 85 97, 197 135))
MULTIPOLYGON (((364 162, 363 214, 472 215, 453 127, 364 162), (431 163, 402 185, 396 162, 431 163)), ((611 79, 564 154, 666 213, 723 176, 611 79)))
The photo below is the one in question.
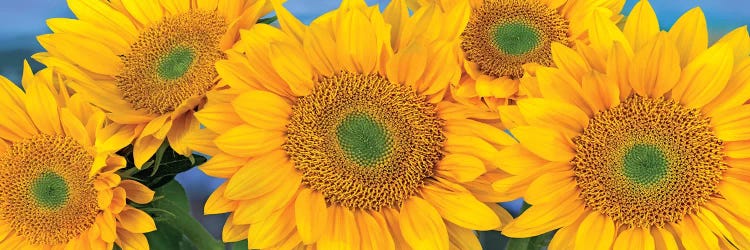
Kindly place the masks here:
POLYGON ((503 53, 522 55, 539 46, 539 33, 523 22, 500 24, 492 32, 495 46, 503 53))

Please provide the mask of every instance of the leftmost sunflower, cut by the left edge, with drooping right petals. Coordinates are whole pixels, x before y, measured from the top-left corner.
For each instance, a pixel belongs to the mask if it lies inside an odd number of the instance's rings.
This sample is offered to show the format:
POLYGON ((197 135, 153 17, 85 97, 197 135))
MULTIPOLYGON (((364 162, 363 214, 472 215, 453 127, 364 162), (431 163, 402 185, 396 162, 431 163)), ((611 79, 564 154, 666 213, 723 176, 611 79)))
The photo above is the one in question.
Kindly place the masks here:
POLYGON ((132 137, 51 70, 25 69, 25 93, 0 78, 0 249, 148 249, 154 221, 126 199, 154 192, 115 173, 132 137))

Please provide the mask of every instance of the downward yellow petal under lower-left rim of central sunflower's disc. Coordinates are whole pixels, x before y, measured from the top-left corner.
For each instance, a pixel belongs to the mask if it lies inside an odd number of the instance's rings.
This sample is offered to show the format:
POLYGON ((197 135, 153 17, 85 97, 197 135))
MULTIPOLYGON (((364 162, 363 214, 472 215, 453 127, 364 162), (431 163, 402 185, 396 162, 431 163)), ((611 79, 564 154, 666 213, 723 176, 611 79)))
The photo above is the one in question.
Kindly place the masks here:
POLYGON ((294 201, 294 209, 297 232, 302 242, 305 244, 314 243, 323 233, 322 225, 325 225, 328 221, 325 197, 320 192, 303 188, 294 201))

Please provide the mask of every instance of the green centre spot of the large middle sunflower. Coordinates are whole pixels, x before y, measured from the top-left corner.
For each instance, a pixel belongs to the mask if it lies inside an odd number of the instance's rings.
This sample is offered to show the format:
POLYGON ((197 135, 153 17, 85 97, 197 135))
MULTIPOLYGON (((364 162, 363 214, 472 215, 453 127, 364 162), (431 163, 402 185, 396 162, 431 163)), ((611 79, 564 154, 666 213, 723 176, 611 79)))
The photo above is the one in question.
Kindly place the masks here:
POLYGON ((379 161, 391 148, 386 128, 365 113, 347 115, 336 129, 336 136, 349 158, 363 166, 379 161))

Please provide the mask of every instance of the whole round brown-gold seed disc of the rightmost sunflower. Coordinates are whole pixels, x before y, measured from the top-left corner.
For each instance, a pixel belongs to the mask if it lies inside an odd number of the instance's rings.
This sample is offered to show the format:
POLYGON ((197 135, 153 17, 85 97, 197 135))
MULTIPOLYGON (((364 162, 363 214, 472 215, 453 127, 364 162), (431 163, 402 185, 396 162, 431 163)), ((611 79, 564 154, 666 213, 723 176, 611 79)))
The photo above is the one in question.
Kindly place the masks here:
POLYGON ((722 141, 700 110, 633 95, 572 139, 580 198, 618 224, 664 226, 720 197, 722 141))

